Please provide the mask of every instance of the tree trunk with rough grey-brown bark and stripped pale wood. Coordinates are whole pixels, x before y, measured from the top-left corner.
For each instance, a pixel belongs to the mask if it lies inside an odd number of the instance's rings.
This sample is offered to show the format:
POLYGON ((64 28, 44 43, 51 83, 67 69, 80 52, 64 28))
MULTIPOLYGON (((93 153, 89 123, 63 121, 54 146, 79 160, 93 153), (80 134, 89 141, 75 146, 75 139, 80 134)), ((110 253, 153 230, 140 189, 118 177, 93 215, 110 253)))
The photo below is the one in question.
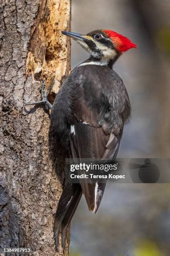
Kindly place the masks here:
POLYGON ((53 215, 65 152, 48 136, 49 113, 24 104, 40 100, 40 77, 52 102, 70 71, 70 41, 61 36, 70 30, 70 0, 2 0, 0 14, 0 246, 63 255, 61 246, 55 251, 53 215))

